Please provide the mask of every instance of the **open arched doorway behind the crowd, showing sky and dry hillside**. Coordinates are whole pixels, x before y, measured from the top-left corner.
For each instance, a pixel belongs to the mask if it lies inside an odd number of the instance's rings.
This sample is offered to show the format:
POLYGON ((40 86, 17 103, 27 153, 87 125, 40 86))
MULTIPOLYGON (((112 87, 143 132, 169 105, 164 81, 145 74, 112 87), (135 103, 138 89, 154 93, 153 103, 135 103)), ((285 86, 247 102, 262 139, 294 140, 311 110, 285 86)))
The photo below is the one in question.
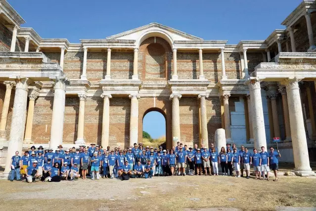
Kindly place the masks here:
POLYGON ((162 109, 157 107, 147 109, 142 117, 142 131, 148 133, 152 140, 143 139, 141 142, 144 145, 163 146, 166 149, 166 120, 166 114, 162 109))

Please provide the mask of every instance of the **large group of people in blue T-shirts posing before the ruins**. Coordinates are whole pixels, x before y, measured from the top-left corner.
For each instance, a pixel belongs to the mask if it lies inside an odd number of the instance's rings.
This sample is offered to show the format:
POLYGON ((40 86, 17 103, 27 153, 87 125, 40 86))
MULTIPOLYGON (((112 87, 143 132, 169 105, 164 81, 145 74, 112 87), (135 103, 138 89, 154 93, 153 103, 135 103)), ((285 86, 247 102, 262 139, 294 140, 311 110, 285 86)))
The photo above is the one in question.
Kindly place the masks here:
POLYGON ((92 180, 100 178, 120 178, 128 180, 130 178, 152 178, 153 176, 185 176, 185 175, 219 175, 219 164, 222 168, 222 175, 250 178, 250 166, 253 165, 256 174, 255 179, 269 180, 270 168, 274 172, 277 181, 279 151, 274 151, 270 147, 270 153, 261 147, 261 152, 253 150, 253 154, 248 149, 241 146, 237 150, 236 145, 232 147, 228 143, 217 152, 214 144, 207 149, 187 148, 186 145, 178 142, 177 146, 170 150, 162 147, 153 148, 135 143, 127 149, 91 144, 82 145, 80 148, 63 149, 59 145, 58 149, 44 149, 40 146, 37 150, 35 146, 30 151, 24 152, 21 157, 16 152, 11 158, 11 178, 23 182, 36 182, 38 180, 46 182, 59 182, 61 180, 87 179, 90 175, 92 180), (233 170, 235 174, 233 174, 233 170), (267 175, 265 174, 267 172, 267 175))

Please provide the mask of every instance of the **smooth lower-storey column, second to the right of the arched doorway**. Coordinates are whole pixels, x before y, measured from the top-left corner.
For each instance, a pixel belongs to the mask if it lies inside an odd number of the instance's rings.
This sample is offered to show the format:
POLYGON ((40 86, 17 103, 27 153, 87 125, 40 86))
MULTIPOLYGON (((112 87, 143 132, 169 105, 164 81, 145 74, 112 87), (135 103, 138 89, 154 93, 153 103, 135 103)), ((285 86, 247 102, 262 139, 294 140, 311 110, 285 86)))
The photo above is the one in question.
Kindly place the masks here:
POLYGON ((206 112, 206 98, 208 98, 208 94, 200 94, 198 98, 200 98, 200 119, 201 119, 201 144, 204 147, 209 148, 209 138, 207 132, 207 112, 206 112))

